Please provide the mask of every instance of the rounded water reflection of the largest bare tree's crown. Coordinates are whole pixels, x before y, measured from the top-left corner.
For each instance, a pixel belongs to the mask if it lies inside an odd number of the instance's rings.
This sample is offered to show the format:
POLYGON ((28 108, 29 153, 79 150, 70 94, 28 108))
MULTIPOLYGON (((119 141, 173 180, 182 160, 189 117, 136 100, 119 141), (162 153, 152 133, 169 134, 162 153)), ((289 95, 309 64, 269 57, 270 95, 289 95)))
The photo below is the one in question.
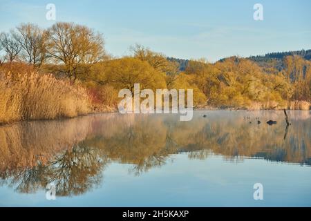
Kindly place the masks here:
POLYGON ((100 171, 105 164, 95 148, 75 145, 48 166, 49 182, 56 184, 58 195, 79 195, 102 182, 100 171))

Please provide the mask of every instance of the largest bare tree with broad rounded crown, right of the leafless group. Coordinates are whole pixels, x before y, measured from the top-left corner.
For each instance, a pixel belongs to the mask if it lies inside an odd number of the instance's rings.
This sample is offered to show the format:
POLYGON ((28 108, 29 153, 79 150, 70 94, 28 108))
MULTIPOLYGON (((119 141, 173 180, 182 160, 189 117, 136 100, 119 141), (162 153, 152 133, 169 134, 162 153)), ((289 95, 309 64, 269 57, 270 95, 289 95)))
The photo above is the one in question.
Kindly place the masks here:
POLYGON ((64 65, 64 72, 74 83, 78 75, 104 58, 104 39, 86 26, 55 23, 47 30, 47 55, 64 65))

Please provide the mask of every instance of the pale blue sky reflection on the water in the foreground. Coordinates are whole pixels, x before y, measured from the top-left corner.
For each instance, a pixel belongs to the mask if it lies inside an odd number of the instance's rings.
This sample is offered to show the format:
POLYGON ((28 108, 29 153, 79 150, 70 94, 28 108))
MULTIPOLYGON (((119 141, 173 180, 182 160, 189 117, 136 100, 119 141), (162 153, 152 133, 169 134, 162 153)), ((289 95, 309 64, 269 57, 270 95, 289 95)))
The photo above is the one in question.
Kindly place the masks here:
POLYGON ((111 164, 97 189, 72 198, 48 201, 35 195, 0 189, 1 206, 310 206, 309 167, 264 160, 223 162, 222 157, 190 160, 174 155, 174 162, 148 173, 128 173, 131 165, 111 164), (253 185, 261 182, 264 200, 253 199, 253 185))

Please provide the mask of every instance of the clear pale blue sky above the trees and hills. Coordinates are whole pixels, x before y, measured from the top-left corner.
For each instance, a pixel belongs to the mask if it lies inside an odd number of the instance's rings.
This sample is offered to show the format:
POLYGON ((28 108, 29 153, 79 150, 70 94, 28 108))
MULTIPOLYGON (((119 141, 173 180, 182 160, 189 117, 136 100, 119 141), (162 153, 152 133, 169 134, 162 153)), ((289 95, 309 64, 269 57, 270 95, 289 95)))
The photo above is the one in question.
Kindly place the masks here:
POLYGON ((0 0, 0 31, 22 22, 47 28, 58 21, 101 32, 115 57, 129 55, 134 44, 168 57, 209 61, 311 49, 310 0, 0 0), (48 3, 55 4, 55 21, 46 19, 48 3), (253 18, 255 3, 263 6, 263 21, 253 18))

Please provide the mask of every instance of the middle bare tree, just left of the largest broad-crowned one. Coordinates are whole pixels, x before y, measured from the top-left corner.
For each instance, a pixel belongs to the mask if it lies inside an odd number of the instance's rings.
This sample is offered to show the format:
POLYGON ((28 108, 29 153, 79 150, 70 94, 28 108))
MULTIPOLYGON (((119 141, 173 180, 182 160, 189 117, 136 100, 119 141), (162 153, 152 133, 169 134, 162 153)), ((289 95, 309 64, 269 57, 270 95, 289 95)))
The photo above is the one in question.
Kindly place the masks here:
POLYGON ((43 29, 32 23, 22 23, 13 33, 22 48, 22 56, 28 64, 39 68, 46 55, 46 35, 43 29))

